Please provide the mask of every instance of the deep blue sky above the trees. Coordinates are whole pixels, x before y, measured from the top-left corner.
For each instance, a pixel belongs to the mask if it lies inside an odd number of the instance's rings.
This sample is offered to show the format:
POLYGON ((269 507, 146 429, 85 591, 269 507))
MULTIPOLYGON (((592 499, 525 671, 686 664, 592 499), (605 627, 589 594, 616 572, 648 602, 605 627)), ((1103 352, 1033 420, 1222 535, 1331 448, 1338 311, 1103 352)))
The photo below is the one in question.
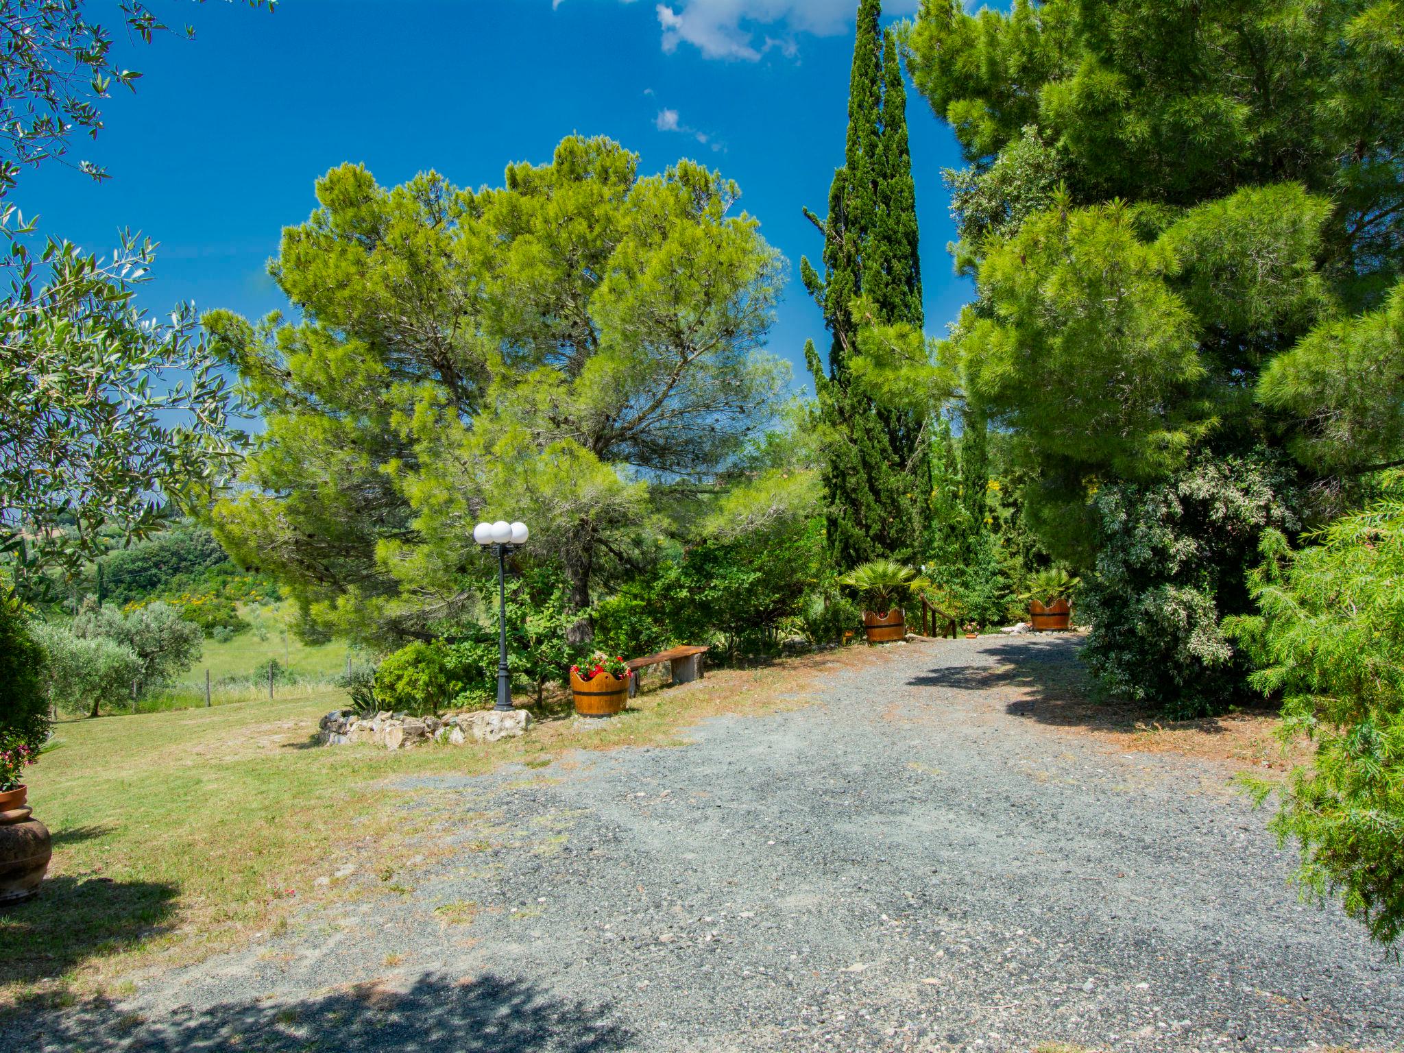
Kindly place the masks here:
MULTIPOLYGON (((100 11, 107 0, 94 0, 100 11)), ((498 185, 510 161, 546 161, 571 132, 608 135, 646 173, 678 157, 734 178, 741 206, 790 261, 771 351, 806 386, 803 345, 827 347, 799 284, 820 254, 800 215, 823 213, 842 163, 856 0, 281 0, 274 14, 212 0, 152 0, 195 41, 122 44, 145 73, 108 102, 93 184, 49 166, 14 199, 45 233, 108 251, 119 227, 161 243, 143 303, 286 307, 267 277, 284 226, 314 206, 313 181, 343 161, 385 185, 434 168, 498 185)), ((890 15, 911 0, 889 0, 890 15)), ((927 329, 969 298, 945 251, 953 236, 941 168, 959 164, 949 129, 908 97, 927 329)))

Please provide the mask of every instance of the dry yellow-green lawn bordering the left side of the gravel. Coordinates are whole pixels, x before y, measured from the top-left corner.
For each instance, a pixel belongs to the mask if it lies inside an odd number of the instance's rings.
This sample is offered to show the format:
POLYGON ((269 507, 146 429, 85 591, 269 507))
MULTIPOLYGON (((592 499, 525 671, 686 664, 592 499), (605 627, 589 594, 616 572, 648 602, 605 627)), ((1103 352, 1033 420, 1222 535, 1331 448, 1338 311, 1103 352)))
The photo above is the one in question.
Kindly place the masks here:
MULTIPOLYGON (((0 913, 0 1007, 114 994, 138 970, 197 962, 296 924, 305 906, 410 890, 416 858, 449 849, 435 813, 403 807, 411 793, 390 789, 392 779, 559 762, 571 748, 675 744, 699 717, 804 705, 816 674, 868 654, 709 673, 687 688, 644 692, 605 724, 583 727, 557 708, 526 737, 494 746, 313 748, 317 717, 345 698, 316 687, 286 688, 272 702, 62 723, 63 747, 29 778, 35 816, 53 831, 53 862, 41 896, 0 913), (337 876, 347 865, 354 875, 337 876)), ((463 795, 452 796, 461 816, 463 795)), ((483 824, 489 840, 503 835, 489 817, 483 824)))

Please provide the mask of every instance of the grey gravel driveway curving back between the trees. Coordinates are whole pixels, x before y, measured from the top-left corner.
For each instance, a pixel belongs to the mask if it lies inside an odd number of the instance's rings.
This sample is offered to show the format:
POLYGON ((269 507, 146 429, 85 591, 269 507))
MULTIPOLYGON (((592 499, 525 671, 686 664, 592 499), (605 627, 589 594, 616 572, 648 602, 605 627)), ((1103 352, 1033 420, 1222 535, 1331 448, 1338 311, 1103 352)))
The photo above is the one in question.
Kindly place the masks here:
POLYGON ((1297 903, 1230 769, 1039 720, 1074 647, 892 647, 692 746, 406 782, 441 833, 399 894, 18 1049, 1404 1045, 1404 969, 1297 903))

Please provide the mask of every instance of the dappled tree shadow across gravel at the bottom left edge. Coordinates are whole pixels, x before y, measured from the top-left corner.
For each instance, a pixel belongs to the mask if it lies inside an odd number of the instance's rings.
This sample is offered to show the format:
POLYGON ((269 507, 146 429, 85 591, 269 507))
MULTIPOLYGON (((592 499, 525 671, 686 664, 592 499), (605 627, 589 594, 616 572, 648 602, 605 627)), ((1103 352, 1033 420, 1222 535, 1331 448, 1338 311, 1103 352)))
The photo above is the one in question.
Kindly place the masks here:
POLYGON ((611 1004, 570 1002, 536 984, 491 974, 456 983, 425 976, 404 991, 347 984, 300 1001, 249 1000, 198 1012, 177 1007, 163 1015, 122 1014, 100 1000, 15 1024, 11 1036, 20 1039, 11 1049, 88 1053, 607 1053, 629 1049, 635 1038, 611 1004))

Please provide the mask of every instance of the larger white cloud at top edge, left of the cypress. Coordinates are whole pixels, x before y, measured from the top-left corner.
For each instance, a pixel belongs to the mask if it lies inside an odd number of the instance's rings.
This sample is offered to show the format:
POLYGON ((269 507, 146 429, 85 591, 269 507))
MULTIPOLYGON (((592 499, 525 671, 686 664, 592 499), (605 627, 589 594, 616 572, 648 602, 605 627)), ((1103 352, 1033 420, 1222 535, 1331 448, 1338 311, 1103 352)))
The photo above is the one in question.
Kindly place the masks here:
MULTIPOLYGON (((886 14, 908 14, 915 7, 917 0, 883 4, 886 14)), ((674 0, 657 6, 663 51, 673 53, 680 44, 691 44, 709 59, 748 62, 772 48, 793 55, 799 34, 847 32, 856 10, 856 0, 674 0)))

